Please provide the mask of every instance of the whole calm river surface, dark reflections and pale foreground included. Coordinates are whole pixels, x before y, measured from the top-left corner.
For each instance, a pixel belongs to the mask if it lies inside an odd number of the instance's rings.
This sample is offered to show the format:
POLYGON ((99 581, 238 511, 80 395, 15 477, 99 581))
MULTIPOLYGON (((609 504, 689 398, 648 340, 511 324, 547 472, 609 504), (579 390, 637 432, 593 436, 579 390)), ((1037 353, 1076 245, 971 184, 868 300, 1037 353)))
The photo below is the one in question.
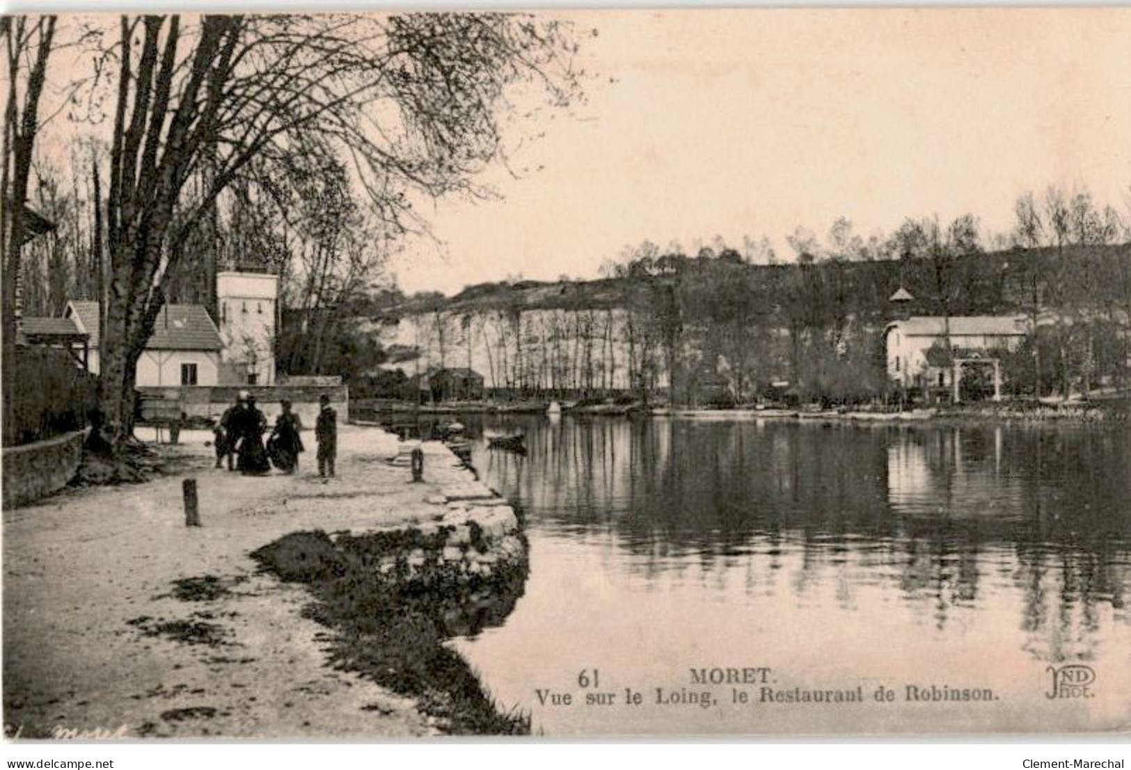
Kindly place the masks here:
MULTIPOLYGON (((467 417, 528 453, 474 465, 528 517, 530 576, 454 644, 535 729, 766 733, 1073 729, 1131 715, 1131 433, 775 421, 467 417), (1094 698, 1048 699, 1083 663, 1094 698), (691 668, 867 702, 733 703, 691 668), (612 707, 544 704, 598 669, 612 707), (918 702, 906 685, 991 689, 918 702), (880 686, 897 692, 877 703, 880 686), (623 703, 625 687, 641 706, 623 703), (657 687, 663 693, 657 693, 657 687)), ((748 687, 758 701, 760 687, 748 687)), ((590 690, 592 691, 592 690, 590 690)))

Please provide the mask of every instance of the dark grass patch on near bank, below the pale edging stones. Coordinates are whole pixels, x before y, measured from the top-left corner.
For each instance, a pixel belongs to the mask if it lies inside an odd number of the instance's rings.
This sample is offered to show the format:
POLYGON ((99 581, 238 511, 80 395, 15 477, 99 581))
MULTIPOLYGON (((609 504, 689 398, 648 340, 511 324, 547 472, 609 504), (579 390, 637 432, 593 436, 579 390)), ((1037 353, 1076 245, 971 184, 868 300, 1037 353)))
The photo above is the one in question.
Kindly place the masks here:
POLYGON ((417 699, 421 710, 447 733, 528 734, 529 716, 500 708, 467 663, 443 644, 454 635, 501 622, 523 594, 527 562, 490 578, 458 580, 440 557, 443 544, 442 530, 336 540, 316 530, 286 535, 252 557, 280 580, 310 588, 316 602, 305 612, 334 630, 335 667, 417 699), (405 560, 418 550, 426 554, 425 564, 408 579, 405 560), (397 559, 396 569, 374 569, 390 555, 397 559))

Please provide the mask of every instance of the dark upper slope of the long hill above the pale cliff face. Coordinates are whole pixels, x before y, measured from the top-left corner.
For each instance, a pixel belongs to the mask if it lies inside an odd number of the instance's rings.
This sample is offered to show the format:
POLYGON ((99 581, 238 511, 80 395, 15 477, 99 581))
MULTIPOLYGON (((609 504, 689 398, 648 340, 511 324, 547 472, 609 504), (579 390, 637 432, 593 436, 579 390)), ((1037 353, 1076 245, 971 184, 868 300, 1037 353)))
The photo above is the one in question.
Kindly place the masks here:
POLYGON ((604 310, 647 302, 657 289, 677 293, 687 305, 692 295, 708 301, 713 289, 735 283, 777 310, 792 297, 843 305, 865 318, 889 314, 888 297, 900 286, 915 297, 917 313, 942 312, 943 294, 953 314, 1017 312, 1031 305, 1035 287, 1042 305, 1068 302, 1070 289, 1083 292, 1082 299, 1091 302, 1131 301, 1131 244, 1065 246, 1062 254, 1052 246, 972 254, 948 263, 941 277, 929 259, 734 265, 680 258, 673 262, 663 270, 620 278, 476 284, 451 297, 409 299, 386 312, 403 317, 437 311, 604 310), (713 285, 717 283, 723 285, 713 285))

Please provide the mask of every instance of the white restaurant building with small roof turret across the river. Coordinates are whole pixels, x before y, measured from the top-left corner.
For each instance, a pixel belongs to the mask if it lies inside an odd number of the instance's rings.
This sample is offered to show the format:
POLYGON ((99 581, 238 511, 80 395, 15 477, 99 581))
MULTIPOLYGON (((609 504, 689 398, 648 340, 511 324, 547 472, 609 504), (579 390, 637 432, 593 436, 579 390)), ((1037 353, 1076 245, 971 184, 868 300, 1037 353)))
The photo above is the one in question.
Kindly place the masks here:
MULTIPOLYGON (((913 315, 889 323, 884 330, 888 377, 908 389, 950 388, 952 364, 933 360, 947 344, 947 326, 942 315, 913 315)), ((977 358, 991 351, 1016 349, 1028 334, 1025 315, 953 315, 949 326, 955 357, 977 358)))

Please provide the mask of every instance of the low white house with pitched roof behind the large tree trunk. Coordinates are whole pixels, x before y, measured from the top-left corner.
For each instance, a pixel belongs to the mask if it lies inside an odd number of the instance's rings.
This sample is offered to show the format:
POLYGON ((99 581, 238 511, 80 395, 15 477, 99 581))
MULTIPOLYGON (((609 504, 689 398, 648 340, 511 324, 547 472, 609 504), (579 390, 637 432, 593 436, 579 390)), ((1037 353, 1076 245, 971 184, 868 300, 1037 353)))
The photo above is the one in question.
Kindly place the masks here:
MULTIPOLYGON (((63 317, 89 338, 87 369, 101 367, 98 303, 71 301, 63 317)), ((138 358, 138 386, 215 386, 219 383, 224 343, 204 305, 165 305, 153 336, 138 358)))

